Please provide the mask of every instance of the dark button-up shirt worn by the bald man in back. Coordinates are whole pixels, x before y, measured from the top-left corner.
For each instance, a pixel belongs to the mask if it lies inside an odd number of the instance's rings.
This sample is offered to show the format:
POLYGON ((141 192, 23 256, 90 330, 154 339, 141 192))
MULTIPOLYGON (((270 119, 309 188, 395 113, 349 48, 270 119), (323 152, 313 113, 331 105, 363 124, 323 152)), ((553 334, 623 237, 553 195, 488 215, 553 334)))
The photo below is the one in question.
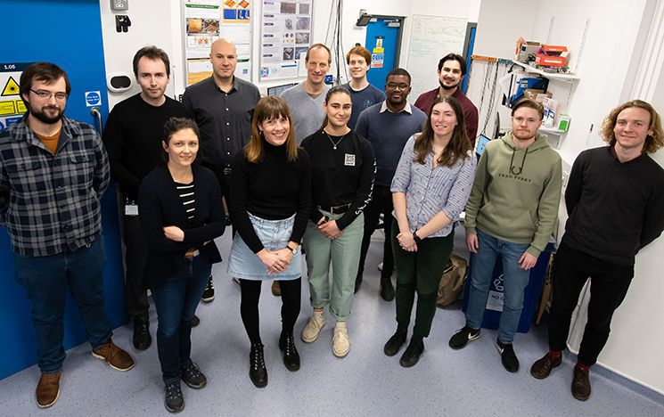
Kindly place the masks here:
POLYGON ((258 87, 237 77, 228 93, 213 77, 187 87, 182 102, 193 111, 201 129, 199 158, 204 166, 222 171, 230 165, 251 135, 251 117, 258 100, 258 87))

